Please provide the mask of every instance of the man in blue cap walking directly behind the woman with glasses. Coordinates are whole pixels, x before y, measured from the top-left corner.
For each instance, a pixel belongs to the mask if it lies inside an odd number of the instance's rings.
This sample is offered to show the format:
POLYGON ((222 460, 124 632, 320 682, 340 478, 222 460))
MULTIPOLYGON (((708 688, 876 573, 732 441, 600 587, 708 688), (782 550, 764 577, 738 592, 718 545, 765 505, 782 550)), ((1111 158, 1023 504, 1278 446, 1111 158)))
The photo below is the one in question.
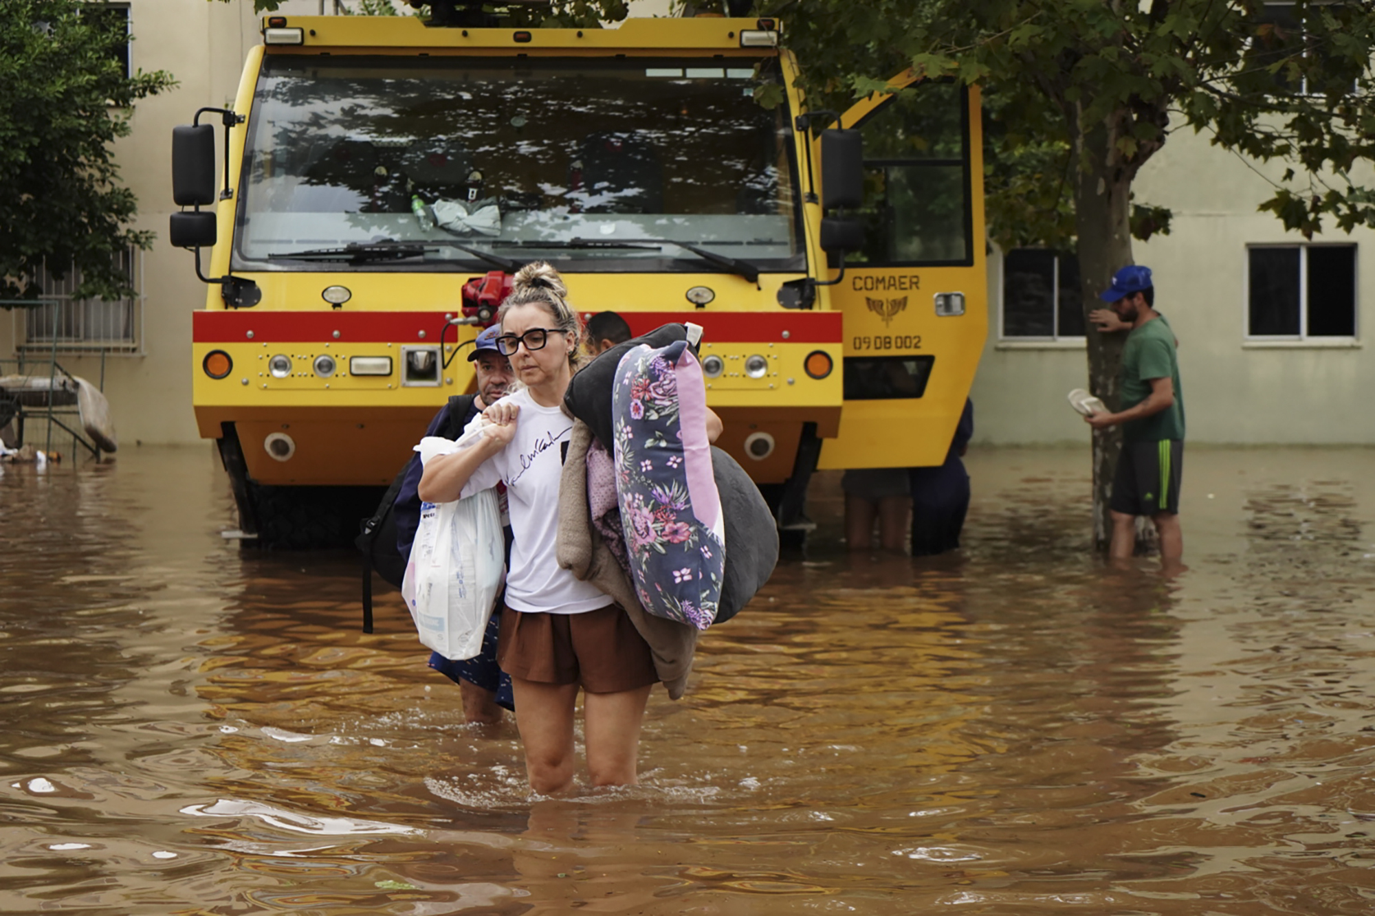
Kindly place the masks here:
MULTIPOLYGON (((510 389, 516 375, 512 373, 510 360, 496 349, 496 337, 500 330, 499 325, 492 325, 480 333, 473 342, 473 352, 468 355, 468 362, 473 363, 473 371, 477 374, 477 393, 450 397, 434 414, 429 429, 425 430, 426 436, 456 439, 477 414, 487 410, 492 402, 503 397, 510 389)), ((396 502, 392 503, 392 513, 396 519, 396 549, 403 557, 411 554, 411 543, 414 543, 415 530, 419 527, 421 498, 417 488, 422 472, 419 455, 412 455, 406 466, 406 479, 396 494, 396 502)), ((503 521, 505 499, 503 495, 503 521)), ((506 545, 509 550, 510 528, 507 528, 506 545)), ((496 607, 500 607, 500 598, 498 598, 496 607)), ((502 719, 502 708, 514 708, 510 677, 496 667, 499 620, 500 615, 494 613, 483 637, 483 651, 476 659, 451 662, 439 652, 430 655, 429 666, 458 684, 463 697, 463 718, 468 722, 495 725, 502 719)))

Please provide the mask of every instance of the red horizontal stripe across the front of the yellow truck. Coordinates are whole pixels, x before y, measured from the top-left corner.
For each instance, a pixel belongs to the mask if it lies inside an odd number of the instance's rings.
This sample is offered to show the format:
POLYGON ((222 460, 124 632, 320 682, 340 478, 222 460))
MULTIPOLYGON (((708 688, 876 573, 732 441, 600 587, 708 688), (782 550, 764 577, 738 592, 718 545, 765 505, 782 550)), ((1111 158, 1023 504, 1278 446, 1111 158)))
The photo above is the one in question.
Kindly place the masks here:
MULTIPOLYGON (((191 314, 191 340, 198 344, 258 341, 437 344, 446 312, 254 312, 198 311, 191 314), (421 331, 425 336, 421 337, 421 331)), ((593 312, 583 312, 591 315, 593 312)), ((672 322, 693 322, 703 340, 718 344, 792 342, 839 344, 840 312, 620 312, 634 334, 672 322)), ((454 341, 454 331, 447 334, 454 341)))

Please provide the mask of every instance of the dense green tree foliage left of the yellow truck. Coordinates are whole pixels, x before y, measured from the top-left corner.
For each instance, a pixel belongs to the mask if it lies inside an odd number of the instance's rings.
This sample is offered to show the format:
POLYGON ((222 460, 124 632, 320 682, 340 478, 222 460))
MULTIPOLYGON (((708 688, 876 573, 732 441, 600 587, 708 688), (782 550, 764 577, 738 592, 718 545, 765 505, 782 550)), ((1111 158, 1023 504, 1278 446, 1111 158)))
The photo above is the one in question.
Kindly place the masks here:
POLYGON ((36 297, 44 261, 58 275, 74 265, 78 296, 131 293, 116 256, 153 234, 129 227, 135 198, 110 144, 131 106, 173 80, 126 76, 116 51, 128 40, 122 21, 77 0, 0 3, 0 298, 36 297))

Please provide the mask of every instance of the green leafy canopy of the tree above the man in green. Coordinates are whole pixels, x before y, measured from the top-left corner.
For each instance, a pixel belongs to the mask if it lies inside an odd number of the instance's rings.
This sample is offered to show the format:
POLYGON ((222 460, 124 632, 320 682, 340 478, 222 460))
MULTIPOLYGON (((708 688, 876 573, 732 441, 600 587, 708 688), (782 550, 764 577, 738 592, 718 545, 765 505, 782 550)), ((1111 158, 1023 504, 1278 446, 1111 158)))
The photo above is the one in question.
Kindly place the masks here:
MULTIPOLYGON (((996 241, 1072 242, 1072 175, 1103 153, 1125 182, 1188 128, 1255 161, 1291 164, 1261 209, 1305 235, 1375 226, 1353 177, 1375 155, 1360 83, 1370 3, 1262 0, 780 0, 804 85, 835 107, 914 67, 984 88, 987 212, 996 241), (1097 140, 1097 142, 1094 142, 1097 140), (1068 176, 1068 177, 1067 177, 1068 176)), ((1132 204, 1133 235, 1167 209, 1132 204)))

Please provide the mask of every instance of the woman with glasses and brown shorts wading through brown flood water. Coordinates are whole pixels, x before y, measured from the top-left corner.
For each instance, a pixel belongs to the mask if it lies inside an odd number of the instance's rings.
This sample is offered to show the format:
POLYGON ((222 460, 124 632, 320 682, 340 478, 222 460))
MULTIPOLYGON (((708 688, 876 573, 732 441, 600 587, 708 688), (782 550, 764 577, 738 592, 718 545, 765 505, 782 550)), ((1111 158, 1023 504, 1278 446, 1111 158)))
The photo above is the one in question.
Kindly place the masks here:
POLYGON ((514 532, 498 663, 512 675, 516 725, 531 788, 573 783, 573 711, 583 700, 593 785, 634 785, 639 725, 659 681, 649 645, 620 605, 556 558, 562 443, 573 421, 561 406, 579 362, 582 323, 549 264, 516 274, 496 316, 498 349, 525 388, 483 414, 494 425, 469 448, 432 458, 421 477, 426 502, 450 502, 506 484, 514 532))

